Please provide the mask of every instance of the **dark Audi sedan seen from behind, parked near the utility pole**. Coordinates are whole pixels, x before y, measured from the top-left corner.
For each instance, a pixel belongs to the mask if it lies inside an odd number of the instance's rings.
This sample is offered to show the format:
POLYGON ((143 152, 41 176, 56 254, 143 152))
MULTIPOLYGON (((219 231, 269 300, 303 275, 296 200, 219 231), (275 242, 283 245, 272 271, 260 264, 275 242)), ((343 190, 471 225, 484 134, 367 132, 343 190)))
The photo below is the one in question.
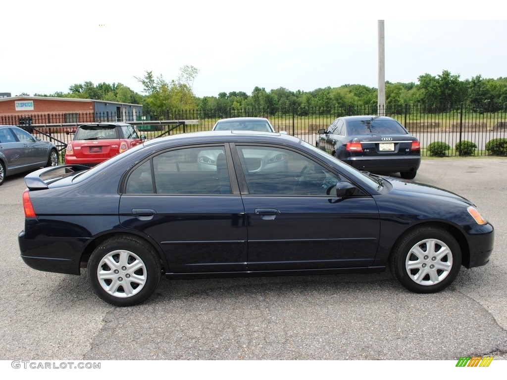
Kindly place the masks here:
POLYGON ((419 140, 386 116, 346 116, 318 133, 317 147, 359 170, 413 179, 421 165, 419 140))

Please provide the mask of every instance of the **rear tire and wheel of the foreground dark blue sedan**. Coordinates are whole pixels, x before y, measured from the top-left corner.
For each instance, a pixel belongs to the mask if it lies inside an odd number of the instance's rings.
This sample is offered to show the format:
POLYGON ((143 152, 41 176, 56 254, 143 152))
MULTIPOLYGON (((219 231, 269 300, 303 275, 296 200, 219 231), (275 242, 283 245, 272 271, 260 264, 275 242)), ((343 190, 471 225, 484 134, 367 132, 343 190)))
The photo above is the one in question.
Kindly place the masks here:
POLYGON ((162 274, 153 247, 134 236, 107 239, 88 261, 88 277, 94 292, 114 306, 134 306, 148 299, 162 274))

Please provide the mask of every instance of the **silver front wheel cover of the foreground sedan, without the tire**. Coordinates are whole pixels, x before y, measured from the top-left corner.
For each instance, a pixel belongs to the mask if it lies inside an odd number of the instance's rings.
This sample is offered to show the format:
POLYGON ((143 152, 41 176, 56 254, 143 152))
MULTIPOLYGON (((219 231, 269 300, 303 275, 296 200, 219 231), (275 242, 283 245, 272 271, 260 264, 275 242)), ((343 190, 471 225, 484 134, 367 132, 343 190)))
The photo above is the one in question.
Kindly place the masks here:
POLYGON ((424 239, 410 249, 405 269, 417 284, 438 284, 450 273, 452 256, 451 249, 443 241, 424 239))

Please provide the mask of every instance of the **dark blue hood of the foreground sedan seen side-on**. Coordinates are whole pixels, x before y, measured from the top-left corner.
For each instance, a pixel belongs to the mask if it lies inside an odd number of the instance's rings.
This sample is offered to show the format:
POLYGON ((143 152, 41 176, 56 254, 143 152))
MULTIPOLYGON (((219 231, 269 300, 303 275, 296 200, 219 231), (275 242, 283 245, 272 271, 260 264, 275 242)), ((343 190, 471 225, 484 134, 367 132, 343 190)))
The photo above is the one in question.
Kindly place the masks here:
POLYGON ((472 202, 455 193, 444 190, 442 188, 431 186, 425 183, 409 182, 393 177, 384 177, 392 186, 390 193, 392 195, 420 197, 420 198, 440 198, 442 200, 451 200, 466 205, 473 205, 472 202))

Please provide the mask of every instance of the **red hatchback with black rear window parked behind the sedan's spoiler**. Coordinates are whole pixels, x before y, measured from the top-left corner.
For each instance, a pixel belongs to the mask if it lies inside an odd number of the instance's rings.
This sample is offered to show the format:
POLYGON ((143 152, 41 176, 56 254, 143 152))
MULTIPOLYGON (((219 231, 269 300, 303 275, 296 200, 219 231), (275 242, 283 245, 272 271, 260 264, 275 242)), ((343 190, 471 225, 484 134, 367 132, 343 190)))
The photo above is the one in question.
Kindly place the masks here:
POLYGON ((95 166, 138 145, 146 136, 138 136, 127 123, 92 123, 80 125, 65 151, 65 164, 95 166))

